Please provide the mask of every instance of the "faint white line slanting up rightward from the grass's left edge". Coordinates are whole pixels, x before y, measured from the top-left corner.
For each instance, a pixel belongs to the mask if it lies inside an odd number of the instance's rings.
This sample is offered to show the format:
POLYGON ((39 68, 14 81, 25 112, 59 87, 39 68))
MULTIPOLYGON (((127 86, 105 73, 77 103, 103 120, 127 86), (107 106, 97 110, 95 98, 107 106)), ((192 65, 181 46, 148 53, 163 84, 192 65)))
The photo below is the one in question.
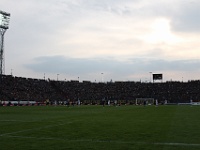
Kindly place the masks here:
POLYGON ((67 122, 67 123, 62 123, 62 124, 48 125, 48 126, 44 126, 44 127, 31 128, 31 129, 20 130, 20 131, 15 131, 15 132, 9 132, 9 133, 0 134, 0 137, 1 136, 5 136, 5 135, 10 135, 10 134, 27 132, 27 131, 34 131, 34 130, 41 130, 41 129, 51 128, 51 127, 63 126, 63 125, 70 124, 70 123, 72 123, 72 122, 67 122))

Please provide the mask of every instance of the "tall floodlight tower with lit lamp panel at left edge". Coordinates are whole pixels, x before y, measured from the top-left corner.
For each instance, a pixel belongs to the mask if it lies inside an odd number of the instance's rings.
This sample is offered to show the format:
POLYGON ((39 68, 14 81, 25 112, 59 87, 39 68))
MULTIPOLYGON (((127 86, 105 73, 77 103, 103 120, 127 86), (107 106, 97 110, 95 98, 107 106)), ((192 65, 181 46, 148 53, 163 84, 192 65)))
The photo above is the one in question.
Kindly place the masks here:
POLYGON ((9 28, 10 14, 0 10, 0 75, 5 73, 4 35, 9 28))

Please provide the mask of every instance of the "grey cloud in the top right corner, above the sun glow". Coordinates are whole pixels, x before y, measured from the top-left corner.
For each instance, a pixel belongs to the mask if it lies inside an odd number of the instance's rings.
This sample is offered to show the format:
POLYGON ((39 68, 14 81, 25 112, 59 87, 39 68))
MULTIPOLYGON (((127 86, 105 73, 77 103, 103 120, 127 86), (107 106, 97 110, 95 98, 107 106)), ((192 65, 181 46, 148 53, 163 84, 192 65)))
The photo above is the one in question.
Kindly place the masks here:
POLYGON ((173 32, 200 32, 198 0, 160 0, 144 5, 144 8, 149 17, 169 19, 173 32))

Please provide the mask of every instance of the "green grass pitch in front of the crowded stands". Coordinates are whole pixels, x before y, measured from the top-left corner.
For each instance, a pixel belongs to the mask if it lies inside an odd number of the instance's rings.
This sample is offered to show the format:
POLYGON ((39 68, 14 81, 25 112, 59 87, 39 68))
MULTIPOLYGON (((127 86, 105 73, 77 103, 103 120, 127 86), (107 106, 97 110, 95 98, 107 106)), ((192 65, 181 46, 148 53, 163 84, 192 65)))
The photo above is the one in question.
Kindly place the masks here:
POLYGON ((0 107, 0 149, 199 150, 200 107, 0 107))

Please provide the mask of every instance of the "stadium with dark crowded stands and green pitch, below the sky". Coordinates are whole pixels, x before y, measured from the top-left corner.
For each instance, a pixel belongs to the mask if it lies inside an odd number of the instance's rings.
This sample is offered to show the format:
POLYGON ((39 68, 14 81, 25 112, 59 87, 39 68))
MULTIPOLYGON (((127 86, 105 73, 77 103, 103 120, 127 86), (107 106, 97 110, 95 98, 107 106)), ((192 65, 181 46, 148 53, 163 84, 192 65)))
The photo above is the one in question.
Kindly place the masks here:
POLYGON ((200 148, 199 80, 92 83, 1 77, 1 149, 200 148))

